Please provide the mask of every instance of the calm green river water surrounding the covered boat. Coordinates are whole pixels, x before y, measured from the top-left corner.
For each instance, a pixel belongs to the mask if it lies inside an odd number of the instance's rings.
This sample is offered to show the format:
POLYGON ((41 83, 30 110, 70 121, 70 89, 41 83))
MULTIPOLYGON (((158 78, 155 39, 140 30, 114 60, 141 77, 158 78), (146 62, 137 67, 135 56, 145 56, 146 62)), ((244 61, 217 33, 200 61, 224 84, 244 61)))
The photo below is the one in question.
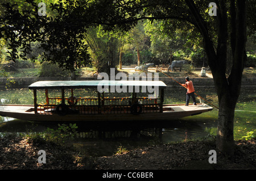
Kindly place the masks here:
MULTIPOLYGON (((93 91, 77 90, 87 96, 97 96, 93 91)), ((197 94, 217 104, 217 96, 213 89, 199 89, 197 94)), ((186 90, 168 88, 164 92, 164 103, 185 103, 186 90)), ((68 92, 67 92, 68 94, 68 92)), ((66 94, 66 95, 67 95, 66 94)), ((44 102, 44 91, 38 91, 39 102, 44 102)), ((60 96, 60 92, 51 91, 49 95, 60 96)), ((76 95, 76 92, 75 92, 76 95)), ((241 138, 247 132, 255 131, 256 128, 256 91, 242 90, 242 94, 237 103, 236 117, 234 119, 234 137, 241 138)), ((192 100, 191 100, 192 101, 192 100)), ((199 102, 197 98, 197 102, 199 102)), ((28 89, 0 90, 0 104, 33 104, 32 91, 28 89)), ((208 104, 209 105, 209 104, 208 104)), ((213 111, 202 113, 201 115, 184 117, 183 119, 172 120, 166 123, 112 123, 112 124, 83 124, 77 123, 81 137, 97 138, 99 131, 104 131, 105 137, 115 137, 121 140, 135 137, 139 140, 162 141, 164 143, 182 141, 193 138, 202 138, 210 133, 216 133, 217 125, 216 108, 213 111)), ((38 123, 33 121, 15 120, 10 117, 0 116, 0 132, 40 132, 46 128, 57 128, 57 123, 38 123)))

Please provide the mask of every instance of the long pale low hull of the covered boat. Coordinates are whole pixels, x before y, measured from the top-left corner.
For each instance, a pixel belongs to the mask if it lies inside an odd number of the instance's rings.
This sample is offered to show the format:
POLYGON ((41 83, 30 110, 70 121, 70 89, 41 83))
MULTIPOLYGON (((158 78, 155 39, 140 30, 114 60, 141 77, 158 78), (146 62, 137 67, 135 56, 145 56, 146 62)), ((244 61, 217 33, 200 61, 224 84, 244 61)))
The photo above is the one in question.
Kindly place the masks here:
POLYGON ((150 120, 172 120, 181 117, 198 115, 203 112, 211 111, 213 108, 207 104, 197 104, 197 106, 184 104, 163 105, 163 111, 141 113, 133 115, 131 113, 106 113, 106 114, 71 114, 60 116, 57 113, 42 114, 34 113, 34 106, 32 105, 1 105, 0 115, 6 117, 13 117, 15 119, 29 120, 29 121, 150 121, 150 120))

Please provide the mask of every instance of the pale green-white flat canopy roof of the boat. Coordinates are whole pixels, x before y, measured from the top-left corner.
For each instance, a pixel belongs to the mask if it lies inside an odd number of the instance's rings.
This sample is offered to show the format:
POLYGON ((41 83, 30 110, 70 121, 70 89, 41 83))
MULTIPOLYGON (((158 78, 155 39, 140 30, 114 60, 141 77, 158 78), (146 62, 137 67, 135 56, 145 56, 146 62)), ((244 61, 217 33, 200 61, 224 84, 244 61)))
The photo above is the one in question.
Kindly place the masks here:
POLYGON ((28 86, 28 89, 80 89, 97 88, 98 86, 158 86, 159 89, 166 89, 162 81, 38 81, 28 86))

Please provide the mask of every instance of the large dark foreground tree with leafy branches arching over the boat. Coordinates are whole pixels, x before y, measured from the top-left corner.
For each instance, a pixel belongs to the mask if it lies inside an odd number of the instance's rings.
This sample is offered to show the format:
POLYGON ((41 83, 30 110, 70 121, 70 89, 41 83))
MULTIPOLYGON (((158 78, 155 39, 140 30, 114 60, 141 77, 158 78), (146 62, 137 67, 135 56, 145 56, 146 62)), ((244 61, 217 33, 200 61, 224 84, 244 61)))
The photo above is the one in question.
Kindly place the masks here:
POLYGON ((52 9, 57 12, 54 19, 38 17, 35 12, 18 14, 11 6, 7 6, 6 14, 1 18, 0 35, 12 45, 14 54, 10 54, 13 57, 17 46, 23 45, 24 50, 29 50, 26 46, 28 40, 38 40, 50 52, 47 58, 59 58, 61 65, 72 68, 76 59, 88 59, 87 47, 81 40, 86 29, 93 24, 106 25, 106 30, 118 27, 127 31, 138 20, 160 19, 166 27, 172 24, 174 30, 176 27, 196 30, 203 39, 218 95, 217 148, 232 155, 234 109, 240 95, 246 61, 246 26, 248 32, 255 32, 253 1, 216 0, 216 16, 209 16, 207 12, 211 0, 67 0, 52 5, 52 9), (251 12, 249 16, 246 16, 247 12, 251 12), (18 32, 18 36, 14 32, 18 32), (40 40, 34 36, 35 33, 40 35, 40 40), (226 75, 229 44, 233 58, 230 74, 226 75))

